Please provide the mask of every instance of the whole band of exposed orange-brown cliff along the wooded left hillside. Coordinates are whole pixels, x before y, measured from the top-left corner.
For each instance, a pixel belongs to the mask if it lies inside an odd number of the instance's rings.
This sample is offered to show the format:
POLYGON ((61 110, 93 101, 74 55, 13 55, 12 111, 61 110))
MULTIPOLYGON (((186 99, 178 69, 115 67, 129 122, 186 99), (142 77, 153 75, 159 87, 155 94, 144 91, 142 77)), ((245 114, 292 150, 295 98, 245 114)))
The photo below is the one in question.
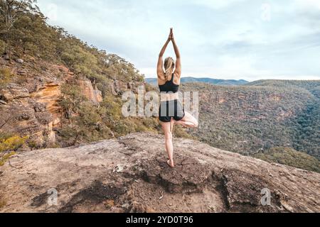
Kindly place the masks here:
MULTIPOLYGON (((36 148, 47 148, 57 142, 56 129, 61 127, 66 114, 59 103, 64 96, 64 84, 76 84, 81 95, 96 106, 103 101, 94 82, 75 75, 63 65, 33 57, 25 57, 23 62, 0 57, 0 69, 11 74, 11 81, 0 86, 0 133, 28 136, 36 148)), ((128 89, 137 90, 139 84, 143 82, 110 80, 105 90, 116 96, 128 89)))

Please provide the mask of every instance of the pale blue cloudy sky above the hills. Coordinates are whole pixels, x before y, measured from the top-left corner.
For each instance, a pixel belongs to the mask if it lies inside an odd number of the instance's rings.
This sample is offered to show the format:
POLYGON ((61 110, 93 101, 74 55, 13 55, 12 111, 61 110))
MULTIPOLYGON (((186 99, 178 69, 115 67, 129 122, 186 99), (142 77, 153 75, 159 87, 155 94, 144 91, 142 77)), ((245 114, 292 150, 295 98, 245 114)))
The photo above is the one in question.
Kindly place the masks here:
MULTIPOLYGON (((156 77, 174 28, 183 77, 320 79, 320 0, 38 0, 48 23, 156 77)), ((164 57, 175 57, 169 45, 164 57)))

